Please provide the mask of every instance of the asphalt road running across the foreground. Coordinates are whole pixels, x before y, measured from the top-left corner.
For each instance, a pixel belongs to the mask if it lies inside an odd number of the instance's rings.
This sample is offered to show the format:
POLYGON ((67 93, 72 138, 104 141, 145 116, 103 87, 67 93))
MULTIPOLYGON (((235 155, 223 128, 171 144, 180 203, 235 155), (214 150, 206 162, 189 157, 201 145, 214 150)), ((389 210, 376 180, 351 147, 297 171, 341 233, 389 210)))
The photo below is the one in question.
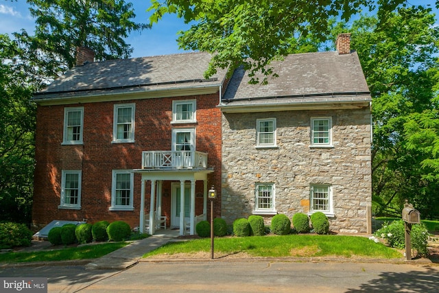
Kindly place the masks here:
POLYGON ((123 271, 8 267, 0 277, 48 277, 49 292, 439 292, 439 266, 412 263, 163 261, 123 271))

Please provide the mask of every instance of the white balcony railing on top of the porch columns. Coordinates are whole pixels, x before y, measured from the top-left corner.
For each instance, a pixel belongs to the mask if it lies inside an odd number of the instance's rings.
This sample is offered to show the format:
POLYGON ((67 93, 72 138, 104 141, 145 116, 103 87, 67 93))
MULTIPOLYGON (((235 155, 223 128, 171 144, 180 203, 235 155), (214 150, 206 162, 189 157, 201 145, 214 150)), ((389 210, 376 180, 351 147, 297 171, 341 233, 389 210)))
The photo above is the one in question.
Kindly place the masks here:
POLYGON ((197 151, 142 152, 142 169, 193 169, 206 168, 207 154, 197 151))

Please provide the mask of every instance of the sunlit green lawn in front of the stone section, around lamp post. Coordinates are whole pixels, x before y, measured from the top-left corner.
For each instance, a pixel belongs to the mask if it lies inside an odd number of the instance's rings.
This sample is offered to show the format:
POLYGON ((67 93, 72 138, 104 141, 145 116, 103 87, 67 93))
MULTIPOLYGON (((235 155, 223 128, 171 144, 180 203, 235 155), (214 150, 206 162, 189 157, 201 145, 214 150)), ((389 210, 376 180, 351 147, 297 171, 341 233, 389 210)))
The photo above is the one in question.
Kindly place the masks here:
MULTIPOLYGON (((195 239, 187 242, 171 242, 143 257, 176 253, 209 252, 211 239, 195 239)), ((215 238, 217 253, 248 253, 254 257, 370 257, 401 258, 401 253, 367 237, 337 235, 285 235, 215 238)))

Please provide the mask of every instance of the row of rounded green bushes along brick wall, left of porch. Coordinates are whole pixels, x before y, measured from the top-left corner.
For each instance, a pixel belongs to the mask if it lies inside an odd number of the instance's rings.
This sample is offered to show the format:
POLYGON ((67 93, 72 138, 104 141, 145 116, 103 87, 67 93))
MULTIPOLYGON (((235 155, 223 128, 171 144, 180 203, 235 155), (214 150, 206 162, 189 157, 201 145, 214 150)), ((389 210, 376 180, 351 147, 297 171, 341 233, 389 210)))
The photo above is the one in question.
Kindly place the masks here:
POLYGON ((130 225, 123 221, 115 221, 111 224, 107 221, 95 224, 65 224, 62 227, 51 228, 47 238, 54 245, 84 244, 92 241, 123 241, 131 236, 130 225))

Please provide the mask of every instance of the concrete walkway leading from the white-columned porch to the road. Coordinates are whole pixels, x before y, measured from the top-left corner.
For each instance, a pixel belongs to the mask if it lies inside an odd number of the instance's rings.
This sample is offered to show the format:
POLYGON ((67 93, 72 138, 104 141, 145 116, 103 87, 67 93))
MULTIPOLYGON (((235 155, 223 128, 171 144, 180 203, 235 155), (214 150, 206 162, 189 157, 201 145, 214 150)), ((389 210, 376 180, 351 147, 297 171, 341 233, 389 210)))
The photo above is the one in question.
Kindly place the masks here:
POLYGON ((139 262, 145 254, 167 244, 179 235, 178 230, 158 230, 155 235, 136 240, 123 248, 108 253, 99 259, 93 259, 85 265, 86 270, 125 270, 139 262))

